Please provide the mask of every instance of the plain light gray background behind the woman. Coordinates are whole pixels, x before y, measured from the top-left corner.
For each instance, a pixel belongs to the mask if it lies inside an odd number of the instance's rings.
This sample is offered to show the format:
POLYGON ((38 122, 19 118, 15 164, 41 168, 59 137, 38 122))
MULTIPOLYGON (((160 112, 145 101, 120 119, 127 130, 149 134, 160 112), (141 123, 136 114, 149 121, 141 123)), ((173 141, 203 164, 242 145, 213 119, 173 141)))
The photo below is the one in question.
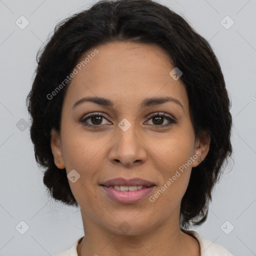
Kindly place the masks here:
MULTIPOLYGON (((79 208, 46 196, 26 127, 25 97, 42 42, 58 21, 93 2, 0 0, 0 255, 54 255, 83 235, 79 208), (29 21, 24 29, 15 23, 21 23, 21 15, 29 21), (29 226, 24 234, 20 221, 29 226)), ((232 101, 233 161, 216 185, 206 222, 192 229, 235 255, 256 255, 256 1, 159 2, 185 17, 210 42, 232 101), (224 26, 230 20, 221 22, 226 15, 234 21, 228 29, 224 26)))

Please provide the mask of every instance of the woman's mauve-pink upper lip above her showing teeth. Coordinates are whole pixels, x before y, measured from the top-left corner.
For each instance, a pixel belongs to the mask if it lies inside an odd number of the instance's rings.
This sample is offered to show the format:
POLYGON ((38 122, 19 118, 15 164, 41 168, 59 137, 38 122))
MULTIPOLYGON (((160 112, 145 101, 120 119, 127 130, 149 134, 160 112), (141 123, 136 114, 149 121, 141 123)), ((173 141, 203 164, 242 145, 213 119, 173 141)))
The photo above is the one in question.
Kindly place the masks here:
POLYGON ((122 177, 119 178, 112 178, 102 182, 100 185, 104 186, 151 186, 155 185, 152 181, 145 180, 142 178, 131 178, 125 179, 122 177))

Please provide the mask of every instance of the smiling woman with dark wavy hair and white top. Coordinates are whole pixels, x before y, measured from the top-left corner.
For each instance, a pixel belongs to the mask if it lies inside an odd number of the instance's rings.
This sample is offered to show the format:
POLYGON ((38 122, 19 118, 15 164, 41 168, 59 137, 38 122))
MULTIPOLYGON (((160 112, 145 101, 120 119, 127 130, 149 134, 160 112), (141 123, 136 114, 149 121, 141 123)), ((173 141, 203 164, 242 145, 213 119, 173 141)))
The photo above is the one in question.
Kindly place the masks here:
POLYGON ((52 198, 84 236, 59 254, 232 255, 206 220, 231 155, 229 98, 207 41, 151 0, 100 1, 60 22, 27 106, 52 198))

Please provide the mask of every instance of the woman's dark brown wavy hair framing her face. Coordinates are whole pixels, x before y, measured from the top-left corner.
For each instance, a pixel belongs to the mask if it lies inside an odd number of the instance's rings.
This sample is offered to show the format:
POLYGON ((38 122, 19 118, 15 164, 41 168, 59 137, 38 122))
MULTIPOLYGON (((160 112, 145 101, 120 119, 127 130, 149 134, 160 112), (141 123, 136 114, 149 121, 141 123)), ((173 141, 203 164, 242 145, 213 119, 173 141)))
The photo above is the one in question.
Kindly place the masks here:
POLYGON ((232 118, 223 74, 209 43, 180 15, 152 0, 101 0, 59 22, 42 50, 26 103, 37 163, 45 168, 43 182, 50 196, 78 206, 65 169, 54 164, 50 130, 59 131, 62 102, 68 84, 53 99, 51 93, 70 74, 81 55, 110 41, 133 41, 160 46, 182 71, 195 135, 211 136, 205 159, 193 167, 181 200, 180 226, 206 220, 213 186, 231 155, 232 118))

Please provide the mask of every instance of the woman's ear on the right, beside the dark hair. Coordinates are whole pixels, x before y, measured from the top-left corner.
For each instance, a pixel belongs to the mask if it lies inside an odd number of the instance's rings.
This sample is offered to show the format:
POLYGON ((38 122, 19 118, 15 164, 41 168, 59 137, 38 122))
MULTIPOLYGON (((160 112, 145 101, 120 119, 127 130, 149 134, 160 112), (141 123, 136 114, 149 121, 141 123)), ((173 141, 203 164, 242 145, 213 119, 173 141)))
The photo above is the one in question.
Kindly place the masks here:
POLYGON ((194 155, 197 155, 195 161, 192 163, 192 167, 196 167, 206 157, 210 147, 210 132, 200 131, 194 142, 194 155))

